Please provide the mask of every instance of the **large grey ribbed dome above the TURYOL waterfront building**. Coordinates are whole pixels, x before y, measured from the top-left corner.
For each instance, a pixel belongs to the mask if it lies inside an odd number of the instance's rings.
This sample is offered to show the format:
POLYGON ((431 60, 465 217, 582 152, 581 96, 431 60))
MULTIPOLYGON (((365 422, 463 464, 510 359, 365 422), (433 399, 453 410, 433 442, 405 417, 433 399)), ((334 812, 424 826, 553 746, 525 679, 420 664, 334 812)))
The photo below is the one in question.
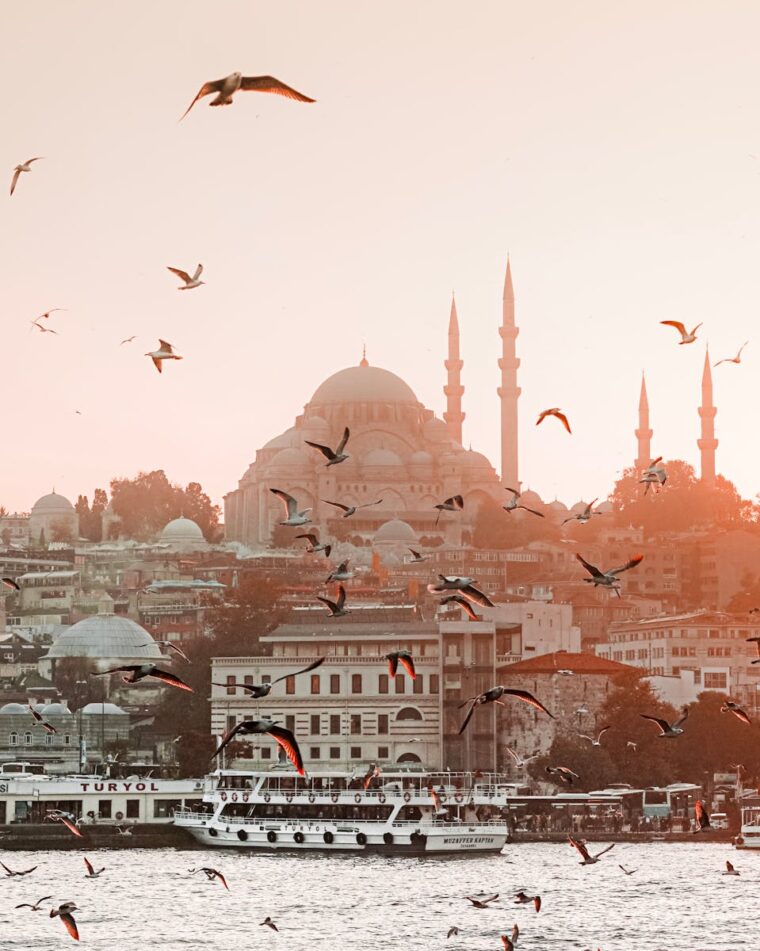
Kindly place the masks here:
POLYGON ((48 658, 92 657, 158 660, 161 651, 151 635, 129 618, 95 614, 64 631, 48 651, 48 658))

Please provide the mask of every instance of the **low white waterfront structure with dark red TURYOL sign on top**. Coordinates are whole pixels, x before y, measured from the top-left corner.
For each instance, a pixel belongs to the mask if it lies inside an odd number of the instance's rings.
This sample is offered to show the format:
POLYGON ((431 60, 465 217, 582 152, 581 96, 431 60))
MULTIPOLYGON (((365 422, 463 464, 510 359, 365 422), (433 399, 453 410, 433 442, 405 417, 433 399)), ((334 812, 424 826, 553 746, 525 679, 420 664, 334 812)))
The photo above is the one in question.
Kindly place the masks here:
POLYGON ((4 763, 0 766, 0 825, 42 823, 54 811, 84 825, 169 823, 178 810, 200 807, 202 795, 199 779, 156 779, 139 772, 122 779, 53 776, 35 764, 4 763))

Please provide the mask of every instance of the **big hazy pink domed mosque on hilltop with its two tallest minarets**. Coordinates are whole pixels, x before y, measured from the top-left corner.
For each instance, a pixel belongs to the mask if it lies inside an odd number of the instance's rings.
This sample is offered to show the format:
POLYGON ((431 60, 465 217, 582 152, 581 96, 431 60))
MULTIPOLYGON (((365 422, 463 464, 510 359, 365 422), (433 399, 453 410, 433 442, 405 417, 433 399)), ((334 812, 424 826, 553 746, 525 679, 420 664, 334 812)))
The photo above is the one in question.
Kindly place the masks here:
POLYGON ((277 488, 294 496, 299 509, 311 509, 308 530, 316 529, 325 539, 345 539, 366 547, 382 525, 400 518, 411 526, 423 547, 468 544, 480 504, 487 498, 502 502, 503 485, 518 485, 520 361, 515 357, 517 328, 509 263, 499 332, 503 341, 499 360, 502 479, 485 456, 463 446, 463 361, 452 300, 443 418, 423 406, 395 373, 370 366, 365 354, 358 366, 328 377, 293 426, 257 451, 237 489, 225 496, 227 540, 254 549, 270 543, 284 517, 280 501, 270 492, 277 488), (305 441, 335 446, 346 426, 351 431, 349 458, 339 466, 327 467, 321 453, 305 441), (463 512, 441 514, 434 508, 455 494, 464 497, 463 512), (349 505, 381 501, 346 522, 324 499, 349 505))

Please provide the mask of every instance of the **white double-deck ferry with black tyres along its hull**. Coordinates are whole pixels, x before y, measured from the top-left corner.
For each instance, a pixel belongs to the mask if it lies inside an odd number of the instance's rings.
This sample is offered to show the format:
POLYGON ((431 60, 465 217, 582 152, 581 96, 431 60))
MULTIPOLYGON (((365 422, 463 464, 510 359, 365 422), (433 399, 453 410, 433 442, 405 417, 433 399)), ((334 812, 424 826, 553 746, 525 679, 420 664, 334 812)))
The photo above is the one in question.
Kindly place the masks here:
POLYGON ((217 770, 202 810, 174 824, 214 848, 380 852, 501 852, 502 816, 514 786, 493 774, 383 772, 362 776, 292 770, 217 770))

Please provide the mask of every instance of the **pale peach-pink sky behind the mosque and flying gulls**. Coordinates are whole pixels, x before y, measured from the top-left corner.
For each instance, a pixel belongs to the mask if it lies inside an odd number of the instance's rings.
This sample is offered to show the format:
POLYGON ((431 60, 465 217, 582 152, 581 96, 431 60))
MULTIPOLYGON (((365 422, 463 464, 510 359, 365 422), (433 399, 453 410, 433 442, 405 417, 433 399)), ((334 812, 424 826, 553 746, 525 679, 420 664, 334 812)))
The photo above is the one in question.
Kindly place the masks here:
POLYGON ((715 426, 754 496, 759 35, 750 0, 9 5, 0 169, 44 160, 0 192, 0 505, 156 468, 221 501, 363 344, 440 415, 452 290, 464 444, 498 469, 508 253, 523 487, 606 497, 642 370, 653 453, 698 465, 704 345, 749 340, 715 426), (233 71, 318 101, 178 122, 233 71), (199 261, 179 293, 167 265, 199 261), (184 357, 160 376, 158 337, 184 357), (535 427, 548 406, 572 436, 535 427))

